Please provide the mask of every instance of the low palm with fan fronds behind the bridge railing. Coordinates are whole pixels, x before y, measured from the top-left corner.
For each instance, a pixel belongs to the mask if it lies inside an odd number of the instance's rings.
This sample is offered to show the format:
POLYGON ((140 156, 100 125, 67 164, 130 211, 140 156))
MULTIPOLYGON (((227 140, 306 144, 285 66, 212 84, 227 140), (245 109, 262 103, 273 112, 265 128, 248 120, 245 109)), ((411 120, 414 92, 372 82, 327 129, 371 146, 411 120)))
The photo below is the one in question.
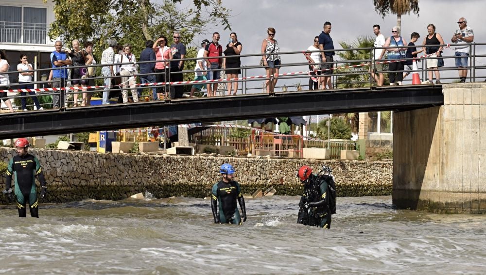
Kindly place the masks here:
MULTIPOLYGON (((337 55, 341 58, 341 60, 350 61, 344 63, 343 66, 360 65, 363 63, 360 60, 371 58, 371 48, 373 47, 374 42, 375 37, 370 35, 360 35, 356 38, 356 41, 353 42, 340 41, 339 45, 341 45, 343 49, 349 50, 339 51, 337 55)), ((367 64, 359 67, 339 69, 339 73, 346 73, 346 75, 337 78, 338 87, 369 87, 371 82, 370 75, 367 73, 368 69, 369 65, 367 64)))

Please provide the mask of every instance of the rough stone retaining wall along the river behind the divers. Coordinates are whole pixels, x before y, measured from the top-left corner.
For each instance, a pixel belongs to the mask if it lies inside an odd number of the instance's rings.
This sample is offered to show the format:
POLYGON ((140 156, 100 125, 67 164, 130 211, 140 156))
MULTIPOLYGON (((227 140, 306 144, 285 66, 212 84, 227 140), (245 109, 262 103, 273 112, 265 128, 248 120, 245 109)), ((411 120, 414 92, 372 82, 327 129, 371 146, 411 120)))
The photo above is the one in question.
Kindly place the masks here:
MULTIPOLYGON (((34 148, 29 152, 41 162, 49 185, 49 202, 119 200, 145 191, 158 198, 205 197, 219 180, 219 166, 225 162, 235 166, 236 180, 248 194, 273 186, 278 195, 299 195, 302 185, 295 178, 297 169, 307 164, 316 172, 324 163, 333 169, 339 196, 392 193, 392 162, 99 154, 34 148)), ((15 154, 13 148, 0 147, 3 162, 15 154)), ((0 183, 3 188, 4 174, 0 183)), ((3 197, 0 202, 4 202, 3 197)))

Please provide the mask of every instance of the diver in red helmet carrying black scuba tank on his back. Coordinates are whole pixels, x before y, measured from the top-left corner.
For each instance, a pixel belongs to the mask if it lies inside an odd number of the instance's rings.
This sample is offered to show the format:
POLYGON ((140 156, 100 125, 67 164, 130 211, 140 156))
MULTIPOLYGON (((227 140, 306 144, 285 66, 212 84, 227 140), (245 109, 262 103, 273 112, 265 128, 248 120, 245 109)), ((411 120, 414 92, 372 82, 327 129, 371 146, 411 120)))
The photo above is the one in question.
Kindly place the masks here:
POLYGON ((330 168, 324 166, 316 175, 312 174, 311 167, 304 165, 296 176, 304 184, 297 224, 329 229, 331 215, 336 213, 336 186, 330 168))

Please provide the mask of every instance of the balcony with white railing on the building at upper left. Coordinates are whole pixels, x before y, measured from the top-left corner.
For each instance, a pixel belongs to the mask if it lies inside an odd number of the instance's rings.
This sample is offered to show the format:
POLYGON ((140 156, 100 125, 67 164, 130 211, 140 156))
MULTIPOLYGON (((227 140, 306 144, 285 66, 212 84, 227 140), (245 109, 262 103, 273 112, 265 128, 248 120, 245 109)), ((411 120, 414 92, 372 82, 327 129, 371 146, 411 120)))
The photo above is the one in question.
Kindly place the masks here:
POLYGON ((51 42, 47 32, 49 28, 44 23, 0 21, 0 43, 46 44, 51 42))

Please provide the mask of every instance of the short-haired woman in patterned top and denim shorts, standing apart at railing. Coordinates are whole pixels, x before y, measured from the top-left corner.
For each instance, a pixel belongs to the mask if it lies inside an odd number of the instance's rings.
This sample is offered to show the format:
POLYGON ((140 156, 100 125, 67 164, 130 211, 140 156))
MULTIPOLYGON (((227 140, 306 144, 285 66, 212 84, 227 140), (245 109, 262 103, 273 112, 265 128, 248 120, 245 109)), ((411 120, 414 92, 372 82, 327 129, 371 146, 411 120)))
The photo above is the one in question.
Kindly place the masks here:
POLYGON ((263 39, 261 43, 261 53, 263 53, 263 65, 268 78, 265 81, 265 87, 267 93, 270 93, 274 91, 278 80, 278 69, 280 69, 280 55, 278 53, 280 53, 280 48, 277 40, 275 40, 275 29, 268 28, 267 34, 268 37, 263 39), (270 78, 270 75, 272 75, 272 78, 270 78), (270 83, 270 80, 272 80, 272 83, 270 83))

